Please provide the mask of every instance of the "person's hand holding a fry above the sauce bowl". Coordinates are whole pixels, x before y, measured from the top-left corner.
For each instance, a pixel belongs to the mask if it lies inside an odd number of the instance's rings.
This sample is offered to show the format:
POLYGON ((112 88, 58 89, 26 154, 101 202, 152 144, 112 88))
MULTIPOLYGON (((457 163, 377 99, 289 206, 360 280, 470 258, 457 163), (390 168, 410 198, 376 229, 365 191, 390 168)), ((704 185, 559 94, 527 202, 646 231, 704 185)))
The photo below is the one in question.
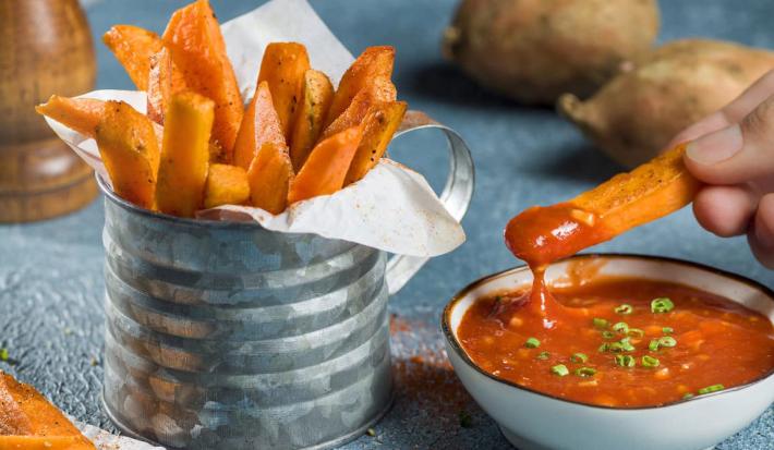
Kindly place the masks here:
POLYGON ((673 144, 687 141, 686 167, 706 183, 693 200, 699 223, 719 236, 746 233, 774 268, 774 71, 673 144))

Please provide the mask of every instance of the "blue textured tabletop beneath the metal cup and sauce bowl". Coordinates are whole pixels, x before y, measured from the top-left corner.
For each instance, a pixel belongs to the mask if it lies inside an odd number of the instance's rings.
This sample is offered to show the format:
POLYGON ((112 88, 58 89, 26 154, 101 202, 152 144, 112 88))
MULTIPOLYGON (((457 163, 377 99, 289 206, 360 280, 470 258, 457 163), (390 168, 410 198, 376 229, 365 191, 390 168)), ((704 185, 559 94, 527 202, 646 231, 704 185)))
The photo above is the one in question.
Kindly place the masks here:
MULTIPOLYGON (((259 3, 211 2, 221 21, 259 3)), ((131 88, 123 70, 99 44, 111 24, 160 32, 169 14, 183 3, 88 2, 98 87, 131 88)), ((439 37, 453 0, 318 0, 313 5, 353 53, 368 45, 396 46, 400 97, 457 129, 469 142, 477 170, 475 196, 463 220, 468 241, 427 264, 391 300, 397 315, 394 354, 401 382, 396 404, 375 427, 375 437, 363 436, 347 448, 508 448, 452 376, 420 367, 428 362, 443 366, 436 357, 439 312, 469 281, 518 264, 501 242, 501 229, 515 212, 571 197, 619 168, 552 110, 528 109, 488 95, 442 60, 439 37), (450 390, 457 393, 449 396, 450 390), (465 424, 470 426, 460 426, 460 412, 470 415, 465 424)), ((774 48, 774 4, 746 0, 743 5, 735 0, 664 0, 661 40, 710 36, 774 48)), ((395 144, 392 155, 439 186, 447 165, 445 151, 432 148, 438 144, 432 135, 406 137, 395 144)), ((13 362, 0 363, 0 369, 33 382, 73 416, 112 429, 98 402, 101 226, 102 205, 97 200, 57 220, 0 227, 0 346, 10 349, 13 362)), ((774 272, 754 262, 743 239, 722 240, 706 233, 689 210, 595 250, 679 257, 774 284, 774 272)), ((774 449, 774 409, 718 448, 774 449)))

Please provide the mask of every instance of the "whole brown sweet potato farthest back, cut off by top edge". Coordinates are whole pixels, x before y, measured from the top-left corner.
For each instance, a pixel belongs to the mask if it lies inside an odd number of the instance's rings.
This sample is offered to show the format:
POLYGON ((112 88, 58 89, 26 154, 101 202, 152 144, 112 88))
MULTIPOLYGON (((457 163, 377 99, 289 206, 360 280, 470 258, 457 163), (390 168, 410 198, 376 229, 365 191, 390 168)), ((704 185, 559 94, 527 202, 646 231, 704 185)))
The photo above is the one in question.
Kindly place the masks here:
POLYGON ((463 0, 444 53, 492 90, 553 105, 593 94, 657 32, 655 0, 463 0))

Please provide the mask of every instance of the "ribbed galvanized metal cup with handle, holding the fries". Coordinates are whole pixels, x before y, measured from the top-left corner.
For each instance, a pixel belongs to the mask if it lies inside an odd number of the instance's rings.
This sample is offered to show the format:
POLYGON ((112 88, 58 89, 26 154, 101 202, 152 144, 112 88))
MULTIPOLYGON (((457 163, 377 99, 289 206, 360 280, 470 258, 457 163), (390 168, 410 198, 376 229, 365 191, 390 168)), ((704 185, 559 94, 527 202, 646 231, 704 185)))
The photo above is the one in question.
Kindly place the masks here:
MULTIPOLYGON (((473 163, 442 130, 442 199, 461 219, 473 163)), ((387 299, 426 258, 256 223, 154 214, 105 193, 104 402, 129 435, 170 448, 329 448, 392 396, 387 299)))

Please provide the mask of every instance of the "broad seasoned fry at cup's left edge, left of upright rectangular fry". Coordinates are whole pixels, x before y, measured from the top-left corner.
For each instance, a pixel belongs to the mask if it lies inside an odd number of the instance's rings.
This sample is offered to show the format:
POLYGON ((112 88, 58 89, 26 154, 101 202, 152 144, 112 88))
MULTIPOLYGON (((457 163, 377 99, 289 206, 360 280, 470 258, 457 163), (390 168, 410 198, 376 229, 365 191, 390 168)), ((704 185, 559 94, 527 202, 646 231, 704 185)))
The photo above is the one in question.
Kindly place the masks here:
POLYGON ((108 101, 96 130, 97 146, 113 191, 153 209, 158 141, 150 120, 123 101, 108 101))

